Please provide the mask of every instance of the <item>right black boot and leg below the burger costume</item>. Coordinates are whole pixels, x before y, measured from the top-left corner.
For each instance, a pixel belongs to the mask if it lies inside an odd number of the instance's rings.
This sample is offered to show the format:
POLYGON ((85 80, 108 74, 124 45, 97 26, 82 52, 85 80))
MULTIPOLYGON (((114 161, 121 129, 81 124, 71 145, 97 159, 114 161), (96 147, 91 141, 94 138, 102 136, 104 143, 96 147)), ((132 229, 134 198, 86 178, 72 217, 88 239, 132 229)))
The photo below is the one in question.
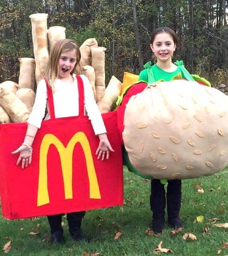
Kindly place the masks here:
POLYGON ((167 186, 167 214, 169 225, 173 229, 183 226, 179 217, 181 209, 181 180, 169 180, 167 186))

